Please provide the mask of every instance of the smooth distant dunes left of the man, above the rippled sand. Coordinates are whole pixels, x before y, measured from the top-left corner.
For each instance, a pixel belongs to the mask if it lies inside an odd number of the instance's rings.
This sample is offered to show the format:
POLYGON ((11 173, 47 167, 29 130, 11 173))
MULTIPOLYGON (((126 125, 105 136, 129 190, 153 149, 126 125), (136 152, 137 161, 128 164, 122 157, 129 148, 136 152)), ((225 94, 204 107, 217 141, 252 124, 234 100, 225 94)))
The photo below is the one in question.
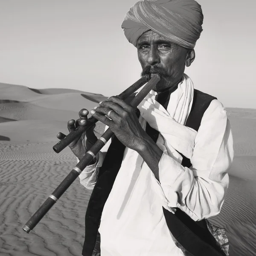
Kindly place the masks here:
MULTIPOLYGON (((58 132, 67 134, 67 121, 78 119, 82 108, 93 109, 98 105, 96 102, 106 99, 99 94, 74 91, 31 90, 25 86, 0 84, 0 135, 16 142, 55 142, 58 132)), ((99 122, 96 131, 103 131, 99 122)))

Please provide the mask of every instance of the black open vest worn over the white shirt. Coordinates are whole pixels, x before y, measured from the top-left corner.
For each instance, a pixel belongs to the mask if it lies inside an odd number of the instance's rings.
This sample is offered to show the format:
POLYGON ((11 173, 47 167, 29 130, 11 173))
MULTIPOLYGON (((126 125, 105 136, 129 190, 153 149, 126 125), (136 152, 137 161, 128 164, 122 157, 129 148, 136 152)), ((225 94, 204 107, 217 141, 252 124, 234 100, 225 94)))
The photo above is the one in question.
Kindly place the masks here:
MULTIPOLYGON (((194 90, 192 109, 186 126, 198 131, 204 112, 215 97, 194 90)), ((146 132, 156 142, 159 132, 148 124, 146 132)), ((121 167, 125 146, 113 137, 104 163, 99 169, 98 180, 94 186, 85 215, 85 240, 82 255, 100 256, 100 234, 98 232, 102 210, 111 192, 116 175, 121 167)), ((181 154, 182 155, 182 154, 181 154)), ((190 167, 190 160, 183 157, 182 165, 190 167)), ((166 224, 175 244, 185 256, 224 256, 214 237, 207 229, 206 221, 193 221, 185 212, 176 208, 172 214, 163 208, 166 224)))

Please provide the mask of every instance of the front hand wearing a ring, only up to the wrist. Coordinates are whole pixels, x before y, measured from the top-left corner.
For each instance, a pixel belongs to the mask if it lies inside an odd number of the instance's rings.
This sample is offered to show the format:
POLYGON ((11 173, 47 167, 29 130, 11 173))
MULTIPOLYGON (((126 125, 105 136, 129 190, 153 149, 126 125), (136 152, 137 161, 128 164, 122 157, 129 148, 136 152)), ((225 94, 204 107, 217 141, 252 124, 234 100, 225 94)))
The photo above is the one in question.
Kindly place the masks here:
POLYGON ((94 118, 108 125, 126 147, 136 151, 142 150, 144 137, 147 134, 141 127, 134 108, 122 99, 112 96, 107 101, 100 102, 99 107, 90 113, 94 118), (111 119, 105 116, 109 111, 111 111, 111 119))

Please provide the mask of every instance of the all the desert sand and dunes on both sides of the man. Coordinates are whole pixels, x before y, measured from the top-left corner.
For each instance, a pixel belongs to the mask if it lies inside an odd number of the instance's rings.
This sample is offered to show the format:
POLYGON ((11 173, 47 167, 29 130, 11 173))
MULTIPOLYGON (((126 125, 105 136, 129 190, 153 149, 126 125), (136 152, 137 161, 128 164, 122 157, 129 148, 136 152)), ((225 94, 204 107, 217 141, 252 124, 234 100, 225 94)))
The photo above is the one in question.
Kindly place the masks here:
MULTIPOLYGON (((76 165, 69 148, 52 150, 56 134, 81 108, 106 97, 68 89, 30 89, 0 84, 0 256, 80 256, 90 190, 70 186, 27 234, 22 226, 76 165)), ((227 108, 235 148, 230 186, 221 213, 230 256, 256 255, 256 110, 227 108)), ((96 135, 103 125, 97 123, 96 135)))

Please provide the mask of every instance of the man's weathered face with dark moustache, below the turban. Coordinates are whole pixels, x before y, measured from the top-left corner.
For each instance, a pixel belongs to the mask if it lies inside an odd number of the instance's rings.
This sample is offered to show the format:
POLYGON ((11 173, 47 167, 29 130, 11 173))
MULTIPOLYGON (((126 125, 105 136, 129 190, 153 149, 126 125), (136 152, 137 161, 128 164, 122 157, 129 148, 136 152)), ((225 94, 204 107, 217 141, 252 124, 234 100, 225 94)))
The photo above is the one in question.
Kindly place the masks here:
POLYGON ((142 75, 158 73, 160 82, 153 90, 161 91, 177 84, 185 70, 188 49, 183 48, 150 30, 137 41, 142 75))

